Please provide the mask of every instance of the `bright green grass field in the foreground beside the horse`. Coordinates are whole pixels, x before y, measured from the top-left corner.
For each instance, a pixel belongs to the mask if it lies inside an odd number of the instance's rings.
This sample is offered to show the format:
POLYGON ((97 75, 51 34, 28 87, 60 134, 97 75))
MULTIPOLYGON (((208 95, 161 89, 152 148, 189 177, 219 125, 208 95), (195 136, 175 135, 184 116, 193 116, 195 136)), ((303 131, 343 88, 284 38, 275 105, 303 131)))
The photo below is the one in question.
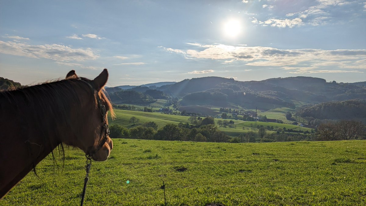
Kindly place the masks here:
MULTIPOLYGON (((366 141, 197 143, 113 139, 93 161, 85 205, 365 205, 366 141), (184 168, 186 169, 184 172, 184 168), (127 184, 127 181, 128 184, 127 184)), ((79 205, 85 156, 49 156, 0 205, 79 205), (56 159, 59 159, 56 156, 56 159), (58 161, 62 165, 62 161, 58 161)))

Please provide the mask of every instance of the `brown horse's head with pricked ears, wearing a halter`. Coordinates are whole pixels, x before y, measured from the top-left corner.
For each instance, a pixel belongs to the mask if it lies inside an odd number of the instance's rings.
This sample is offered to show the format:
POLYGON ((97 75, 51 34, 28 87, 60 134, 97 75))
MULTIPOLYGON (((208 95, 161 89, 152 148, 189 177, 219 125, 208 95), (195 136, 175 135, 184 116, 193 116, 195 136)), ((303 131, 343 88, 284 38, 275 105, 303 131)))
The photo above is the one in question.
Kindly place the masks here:
POLYGON ((65 138, 64 143, 80 148, 87 157, 95 161, 107 160, 113 142, 109 138, 107 113, 114 116, 112 105, 104 94, 104 85, 108 80, 108 71, 104 69, 94 80, 78 77, 74 70, 71 70, 67 80, 74 79, 82 87, 79 89, 81 109, 71 110, 72 138, 65 138), (83 88, 83 89, 81 89, 83 88))

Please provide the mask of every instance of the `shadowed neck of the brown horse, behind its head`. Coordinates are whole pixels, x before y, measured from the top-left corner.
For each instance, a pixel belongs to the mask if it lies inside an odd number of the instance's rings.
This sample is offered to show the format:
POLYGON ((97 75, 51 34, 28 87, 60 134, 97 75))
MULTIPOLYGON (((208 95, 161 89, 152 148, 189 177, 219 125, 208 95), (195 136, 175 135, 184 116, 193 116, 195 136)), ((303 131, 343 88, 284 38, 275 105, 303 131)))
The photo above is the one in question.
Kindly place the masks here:
POLYGON ((47 105, 26 92, 0 93, 0 165, 4 166, 0 169, 0 197, 61 143, 60 136, 67 135, 67 131, 59 134, 70 128, 66 120, 57 124, 61 113, 67 112, 61 111, 65 106, 57 105, 57 101, 59 99, 47 105), (52 108, 49 110, 51 114, 38 110, 42 107, 52 108))

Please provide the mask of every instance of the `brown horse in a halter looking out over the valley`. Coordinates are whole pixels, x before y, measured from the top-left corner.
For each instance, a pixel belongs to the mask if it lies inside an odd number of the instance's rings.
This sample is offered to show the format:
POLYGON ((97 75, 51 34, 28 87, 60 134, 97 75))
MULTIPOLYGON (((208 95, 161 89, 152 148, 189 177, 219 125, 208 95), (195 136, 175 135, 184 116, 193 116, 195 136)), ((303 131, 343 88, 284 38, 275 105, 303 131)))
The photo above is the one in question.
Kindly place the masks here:
POLYGON ((107 80, 107 69, 94 80, 72 70, 61 81, 0 92, 1 198, 62 143, 107 160, 107 111, 114 117, 103 93, 107 80))

